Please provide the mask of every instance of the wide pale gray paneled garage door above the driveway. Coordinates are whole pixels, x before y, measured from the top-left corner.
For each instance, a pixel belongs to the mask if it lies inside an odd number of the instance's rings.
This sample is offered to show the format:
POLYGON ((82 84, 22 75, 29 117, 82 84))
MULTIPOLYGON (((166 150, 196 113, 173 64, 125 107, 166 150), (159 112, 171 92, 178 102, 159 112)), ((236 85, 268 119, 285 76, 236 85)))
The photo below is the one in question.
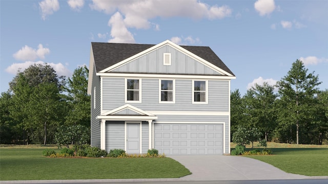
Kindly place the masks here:
POLYGON ((166 155, 222 155, 223 124, 154 124, 154 148, 166 155))

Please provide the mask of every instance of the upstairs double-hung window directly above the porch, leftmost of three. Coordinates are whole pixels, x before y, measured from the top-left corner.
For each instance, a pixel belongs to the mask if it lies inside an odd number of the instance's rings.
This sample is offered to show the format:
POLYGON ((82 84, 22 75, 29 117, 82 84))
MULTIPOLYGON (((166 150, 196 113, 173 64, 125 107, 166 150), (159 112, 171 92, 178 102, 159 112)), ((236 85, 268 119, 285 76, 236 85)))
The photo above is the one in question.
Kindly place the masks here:
POLYGON ((141 80, 126 79, 126 101, 141 102, 141 80))

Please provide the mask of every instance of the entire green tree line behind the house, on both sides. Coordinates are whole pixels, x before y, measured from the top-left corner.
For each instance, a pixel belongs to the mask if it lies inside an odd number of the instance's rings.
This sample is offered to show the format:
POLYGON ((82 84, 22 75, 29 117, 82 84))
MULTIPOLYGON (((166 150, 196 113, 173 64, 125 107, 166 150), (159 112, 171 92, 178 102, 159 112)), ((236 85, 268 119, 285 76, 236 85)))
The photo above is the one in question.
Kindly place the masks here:
MULTIPOLYGON (((86 66, 78 67, 72 78, 66 78, 41 64, 18 71, 0 98, 1 144, 59 141, 67 145, 80 136, 70 130, 90 136, 88 73, 86 66)), ((266 141, 327 143, 328 89, 319 90, 320 83, 314 72, 308 74, 302 61, 296 60, 275 86, 256 84, 243 97, 238 89, 232 91, 231 135, 243 127, 255 128, 266 141)))

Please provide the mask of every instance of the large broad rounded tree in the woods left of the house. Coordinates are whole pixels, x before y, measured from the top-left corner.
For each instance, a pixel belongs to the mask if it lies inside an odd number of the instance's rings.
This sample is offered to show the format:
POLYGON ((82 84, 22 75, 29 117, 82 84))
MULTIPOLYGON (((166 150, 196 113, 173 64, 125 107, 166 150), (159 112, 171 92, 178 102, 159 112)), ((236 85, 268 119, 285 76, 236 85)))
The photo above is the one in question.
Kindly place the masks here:
POLYGON ((10 118, 19 122, 28 142, 46 144, 47 125, 64 122, 66 102, 60 100, 64 85, 65 77, 58 77, 48 64, 34 64, 24 72, 18 71, 9 83, 13 102, 10 118))

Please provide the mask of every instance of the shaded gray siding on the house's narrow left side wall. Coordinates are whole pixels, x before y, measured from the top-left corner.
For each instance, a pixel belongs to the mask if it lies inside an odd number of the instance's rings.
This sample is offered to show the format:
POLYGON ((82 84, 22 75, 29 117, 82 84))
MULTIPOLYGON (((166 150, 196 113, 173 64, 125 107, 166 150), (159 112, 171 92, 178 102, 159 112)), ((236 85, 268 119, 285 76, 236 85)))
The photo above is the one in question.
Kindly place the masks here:
MULTIPOLYGON (((95 67, 93 67, 95 68, 95 67)), ((97 116, 100 114, 100 77, 96 76, 93 70, 92 89, 91 89, 91 146, 100 148, 100 120, 97 116), (96 88, 96 94, 94 94, 96 88), (95 97, 95 98, 94 98, 95 97), (94 108, 95 103, 95 108, 94 108)))

